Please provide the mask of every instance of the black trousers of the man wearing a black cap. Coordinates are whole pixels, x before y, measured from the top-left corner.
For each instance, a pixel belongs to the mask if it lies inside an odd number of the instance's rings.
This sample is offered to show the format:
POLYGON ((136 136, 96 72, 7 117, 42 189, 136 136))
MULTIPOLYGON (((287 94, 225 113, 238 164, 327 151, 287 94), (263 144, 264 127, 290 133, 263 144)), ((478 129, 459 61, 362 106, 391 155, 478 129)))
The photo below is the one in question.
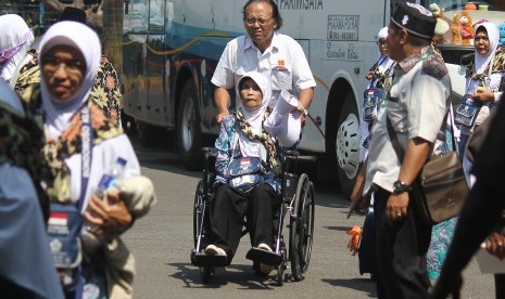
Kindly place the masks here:
POLYGON ((407 214, 389 223, 386 204, 391 194, 382 188, 375 193, 374 211, 377 229, 377 292, 379 298, 426 298, 430 281, 426 253, 430 245, 431 225, 416 213, 409 196, 407 214))

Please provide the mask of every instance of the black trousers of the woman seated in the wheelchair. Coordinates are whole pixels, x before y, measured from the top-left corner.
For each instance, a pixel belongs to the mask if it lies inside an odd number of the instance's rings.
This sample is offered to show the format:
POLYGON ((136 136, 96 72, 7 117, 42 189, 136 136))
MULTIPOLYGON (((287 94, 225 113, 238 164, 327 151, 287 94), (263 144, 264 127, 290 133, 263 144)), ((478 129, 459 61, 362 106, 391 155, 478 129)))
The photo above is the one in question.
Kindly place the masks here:
POLYGON ((239 247, 244 218, 251 245, 256 247, 265 243, 273 248, 273 219, 280 198, 269 184, 260 183, 247 196, 222 185, 210 204, 212 244, 226 251, 228 262, 231 262, 239 247))

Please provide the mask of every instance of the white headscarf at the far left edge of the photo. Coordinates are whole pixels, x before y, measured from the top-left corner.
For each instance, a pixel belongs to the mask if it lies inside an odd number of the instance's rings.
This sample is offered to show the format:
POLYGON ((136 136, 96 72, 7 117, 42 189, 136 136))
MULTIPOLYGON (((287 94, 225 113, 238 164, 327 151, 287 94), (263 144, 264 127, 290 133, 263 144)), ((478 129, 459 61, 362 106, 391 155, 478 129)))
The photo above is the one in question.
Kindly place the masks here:
POLYGON ((34 41, 34 34, 23 17, 17 14, 0 16, 0 52, 4 53, 7 61, 0 65, 0 77, 10 80, 17 64, 23 60, 26 51, 34 41), (9 51, 10 50, 10 51, 9 51))

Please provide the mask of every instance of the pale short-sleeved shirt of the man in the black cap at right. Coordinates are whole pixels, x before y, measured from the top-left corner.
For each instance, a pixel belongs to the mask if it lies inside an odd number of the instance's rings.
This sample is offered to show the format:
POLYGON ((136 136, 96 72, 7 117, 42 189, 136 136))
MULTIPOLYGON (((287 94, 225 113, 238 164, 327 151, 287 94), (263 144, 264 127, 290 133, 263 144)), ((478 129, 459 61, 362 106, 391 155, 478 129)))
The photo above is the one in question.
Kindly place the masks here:
POLYGON ((405 152, 415 138, 434 143, 432 154, 438 154, 444 142, 438 136, 449 105, 451 79, 442 57, 427 47, 399 63, 393 76, 386 108, 380 110, 371 132, 365 190, 377 184, 392 192, 399 179, 401 162, 388 133, 387 116, 405 152))

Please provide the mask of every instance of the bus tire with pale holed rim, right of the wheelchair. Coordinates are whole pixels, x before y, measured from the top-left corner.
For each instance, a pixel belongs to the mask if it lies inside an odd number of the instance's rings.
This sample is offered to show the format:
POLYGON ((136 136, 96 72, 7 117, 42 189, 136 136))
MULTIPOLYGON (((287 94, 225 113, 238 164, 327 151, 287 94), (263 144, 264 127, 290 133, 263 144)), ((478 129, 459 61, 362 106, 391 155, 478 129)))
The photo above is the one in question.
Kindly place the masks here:
POLYGON ((340 109, 332 136, 331 153, 336 157, 338 180, 345 196, 351 195, 359 170, 359 113, 354 94, 349 92, 340 109))

